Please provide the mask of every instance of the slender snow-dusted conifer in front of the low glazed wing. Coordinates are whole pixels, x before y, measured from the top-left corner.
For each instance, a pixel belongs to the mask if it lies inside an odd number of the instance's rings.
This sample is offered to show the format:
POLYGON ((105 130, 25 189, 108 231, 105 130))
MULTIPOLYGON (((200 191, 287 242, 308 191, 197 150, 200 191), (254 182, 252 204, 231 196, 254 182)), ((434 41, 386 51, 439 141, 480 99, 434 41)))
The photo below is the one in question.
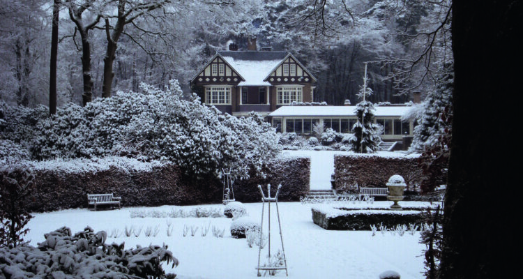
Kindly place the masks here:
POLYGON ((379 150, 381 143, 381 126, 372 123, 374 119, 374 104, 368 101, 368 97, 372 95, 372 89, 366 86, 367 73, 363 77, 364 86, 360 89, 358 96, 363 100, 356 105, 356 117, 358 121, 352 127, 354 137, 350 140, 352 150, 356 153, 374 153, 379 150))

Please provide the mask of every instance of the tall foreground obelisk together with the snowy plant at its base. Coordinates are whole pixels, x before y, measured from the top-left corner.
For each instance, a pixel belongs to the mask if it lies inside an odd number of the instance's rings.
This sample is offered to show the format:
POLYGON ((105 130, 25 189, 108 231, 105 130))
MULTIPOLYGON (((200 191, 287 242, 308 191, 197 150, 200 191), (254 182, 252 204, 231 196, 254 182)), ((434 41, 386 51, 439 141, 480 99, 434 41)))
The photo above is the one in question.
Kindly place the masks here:
POLYGON ((282 188, 282 185, 280 184, 278 186, 278 190, 276 191, 276 195, 274 197, 271 197, 271 184, 267 185, 267 195, 268 197, 265 197, 264 190, 261 190, 261 185, 258 185, 259 191, 261 192, 261 225, 259 229, 259 239, 263 236, 264 231, 264 209, 265 209, 265 202, 268 202, 268 263, 260 266, 259 260, 261 257, 261 246, 259 246, 258 250, 258 267, 256 268, 258 270, 258 277, 261 276, 260 271, 268 272, 269 275, 275 275, 276 271, 285 269, 285 275, 289 276, 289 272, 287 271, 287 259, 285 258, 285 248, 283 248, 283 235, 282 235, 282 224, 280 222, 280 210, 278 209, 278 194, 280 193, 280 188, 282 188), (275 202, 276 204, 276 213, 278 214, 278 227, 280 227, 280 241, 282 242, 282 250, 278 251, 275 255, 271 257, 271 202, 275 202))

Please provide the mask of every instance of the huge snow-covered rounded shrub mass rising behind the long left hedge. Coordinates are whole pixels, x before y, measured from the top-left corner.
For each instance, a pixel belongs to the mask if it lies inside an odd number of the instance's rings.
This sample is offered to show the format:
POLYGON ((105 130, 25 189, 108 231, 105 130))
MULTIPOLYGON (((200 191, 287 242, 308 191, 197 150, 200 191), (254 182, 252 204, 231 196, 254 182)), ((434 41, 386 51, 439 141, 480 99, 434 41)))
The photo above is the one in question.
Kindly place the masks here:
POLYGON ((33 160, 168 160, 197 176, 232 167, 236 176, 245 177, 250 167, 260 169, 280 151, 275 129, 258 115, 238 119, 202 105, 196 96, 183 100, 178 82, 165 90, 146 84, 140 89, 85 107, 70 104, 53 116, 43 107, 0 103, 0 139, 19 144, 33 160))

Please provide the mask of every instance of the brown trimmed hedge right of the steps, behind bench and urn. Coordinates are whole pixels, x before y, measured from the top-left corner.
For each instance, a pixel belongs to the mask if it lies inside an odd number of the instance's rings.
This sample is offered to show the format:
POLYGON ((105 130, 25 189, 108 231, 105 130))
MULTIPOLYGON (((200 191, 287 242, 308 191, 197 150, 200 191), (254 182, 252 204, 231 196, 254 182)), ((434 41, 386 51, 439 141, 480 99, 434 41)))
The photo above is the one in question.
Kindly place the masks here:
POLYGON ((423 179, 416 157, 353 155, 334 157, 335 186, 340 193, 357 193, 359 187, 386 187, 388 179, 400 174, 405 190, 416 190, 423 179))

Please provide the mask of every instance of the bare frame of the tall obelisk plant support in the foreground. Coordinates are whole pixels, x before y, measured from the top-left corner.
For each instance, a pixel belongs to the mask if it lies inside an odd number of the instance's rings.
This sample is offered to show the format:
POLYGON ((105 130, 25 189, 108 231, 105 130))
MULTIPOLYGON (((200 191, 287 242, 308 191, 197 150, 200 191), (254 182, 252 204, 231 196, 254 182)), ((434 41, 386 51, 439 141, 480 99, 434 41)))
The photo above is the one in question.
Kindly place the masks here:
POLYGON ((261 190, 261 185, 258 185, 259 191, 261 193, 261 225, 259 229, 259 239, 261 242, 261 237, 263 236, 264 231, 264 209, 265 209, 265 202, 268 202, 268 264, 265 266, 259 266, 259 259, 261 257, 261 245, 258 249, 258 277, 261 276, 260 271, 277 271, 277 270, 283 270, 285 269, 285 275, 289 276, 289 272, 287 271, 287 258, 285 258, 285 248, 283 248, 283 235, 282 235, 282 223, 280 222, 280 210, 278 209, 278 194, 280 193, 280 188, 282 188, 282 185, 278 185, 278 190, 276 191, 276 195, 274 197, 271 197, 271 184, 267 185, 267 196, 265 197, 264 190, 261 190), (282 241, 282 254, 283 254, 283 266, 272 266, 271 265, 271 202, 275 202, 276 204, 276 213, 278 215, 278 227, 280 227, 280 240, 282 241))

